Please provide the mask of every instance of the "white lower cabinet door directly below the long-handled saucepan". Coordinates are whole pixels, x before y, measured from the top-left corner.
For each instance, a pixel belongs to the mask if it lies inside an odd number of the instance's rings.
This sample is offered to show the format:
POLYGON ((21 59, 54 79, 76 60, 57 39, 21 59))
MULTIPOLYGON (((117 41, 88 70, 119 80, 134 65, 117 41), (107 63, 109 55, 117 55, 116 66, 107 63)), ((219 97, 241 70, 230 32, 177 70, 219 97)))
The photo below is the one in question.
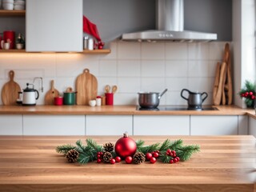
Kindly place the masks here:
POLYGON ((134 115, 134 135, 190 135, 190 116, 134 115))

